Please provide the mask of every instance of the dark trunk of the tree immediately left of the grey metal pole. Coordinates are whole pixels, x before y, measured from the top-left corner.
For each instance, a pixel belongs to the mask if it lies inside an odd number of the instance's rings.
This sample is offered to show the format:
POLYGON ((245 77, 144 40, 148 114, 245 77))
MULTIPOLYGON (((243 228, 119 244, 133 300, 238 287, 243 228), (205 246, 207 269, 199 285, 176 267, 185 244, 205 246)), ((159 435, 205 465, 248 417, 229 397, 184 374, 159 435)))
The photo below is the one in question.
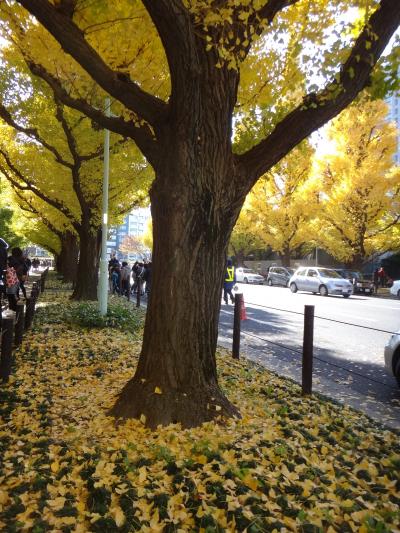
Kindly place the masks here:
POLYGON ((97 300, 101 230, 82 223, 79 233, 79 262, 73 300, 97 300))

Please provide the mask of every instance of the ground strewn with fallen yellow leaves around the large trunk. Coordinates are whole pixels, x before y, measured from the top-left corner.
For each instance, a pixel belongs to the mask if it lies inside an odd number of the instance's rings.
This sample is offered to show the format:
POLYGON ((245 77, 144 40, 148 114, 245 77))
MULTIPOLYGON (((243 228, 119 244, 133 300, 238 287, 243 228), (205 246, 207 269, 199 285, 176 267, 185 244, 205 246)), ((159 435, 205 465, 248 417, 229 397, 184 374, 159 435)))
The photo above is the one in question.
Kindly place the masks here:
POLYGON ((55 309, 40 309, 0 387, 0 530, 399 531, 398 434, 226 353, 220 383, 241 420, 116 426, 107 409, 139 336, 55 309))

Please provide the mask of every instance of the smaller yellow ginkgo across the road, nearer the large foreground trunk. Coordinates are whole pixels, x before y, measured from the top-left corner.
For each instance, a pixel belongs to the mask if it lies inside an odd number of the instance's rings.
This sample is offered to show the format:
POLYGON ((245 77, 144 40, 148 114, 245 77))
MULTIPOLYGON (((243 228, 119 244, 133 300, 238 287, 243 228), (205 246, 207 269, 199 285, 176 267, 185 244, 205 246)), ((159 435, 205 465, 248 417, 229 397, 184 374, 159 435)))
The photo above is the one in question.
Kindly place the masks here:
POLYGON ((253 234, 277 252, 285 266, 310 240, 310 221, 318 209, 313 154, 306 141, 292 150, 256 183, 239 217, 248 220, 253 234))

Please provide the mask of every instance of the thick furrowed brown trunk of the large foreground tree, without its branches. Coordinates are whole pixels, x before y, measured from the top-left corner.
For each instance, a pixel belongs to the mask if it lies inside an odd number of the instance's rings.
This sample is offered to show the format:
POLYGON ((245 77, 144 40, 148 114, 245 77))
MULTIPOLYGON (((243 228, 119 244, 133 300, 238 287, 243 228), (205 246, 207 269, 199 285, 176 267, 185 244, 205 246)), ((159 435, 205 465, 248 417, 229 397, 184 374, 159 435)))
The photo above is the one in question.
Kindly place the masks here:
MULTIPOLYGON (((218 129, 215 115, 206 117, 210 130, 218 129)), ((152 428, 239 416, 218 386, 215 351, 226 252, 245 191, 238 199, 227 187, 234 172, 228 128, 209 143, 205 129, 190 139, 179 138, 178 125, 172 130, 151 191, 153 278, 142 352, 111 410, 144 416, 152 428)))

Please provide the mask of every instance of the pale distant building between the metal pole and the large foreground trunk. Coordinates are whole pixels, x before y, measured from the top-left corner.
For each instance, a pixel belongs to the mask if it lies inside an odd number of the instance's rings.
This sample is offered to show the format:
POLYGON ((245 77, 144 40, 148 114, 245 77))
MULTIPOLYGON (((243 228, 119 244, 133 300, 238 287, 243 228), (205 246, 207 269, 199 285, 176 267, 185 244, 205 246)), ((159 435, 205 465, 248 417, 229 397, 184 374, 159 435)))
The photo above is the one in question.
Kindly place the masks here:
POLYGON ((107 254, 110 255, 115 252, 118 259, 128 261, 148 259, 151 254, 150 250, 126 252, 121 250, 121 245, 127 236, 136 237, 140 240, 147 230, 150 219, 150 207, 139 207, 132 210, 126 215, 120 226, 110 228, 107 240, 107 254))

